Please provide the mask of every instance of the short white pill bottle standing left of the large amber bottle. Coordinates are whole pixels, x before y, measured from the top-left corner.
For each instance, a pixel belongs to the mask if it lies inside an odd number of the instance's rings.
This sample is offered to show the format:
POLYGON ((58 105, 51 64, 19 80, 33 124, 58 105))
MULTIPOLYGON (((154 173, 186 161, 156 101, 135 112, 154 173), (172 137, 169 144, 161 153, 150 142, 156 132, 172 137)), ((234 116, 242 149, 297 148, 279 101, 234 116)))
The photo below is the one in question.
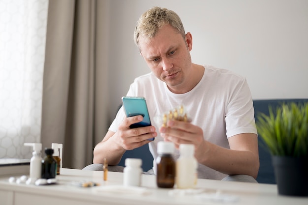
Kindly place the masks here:
POLYGON ((124 168, 124 186, 140 186, 142 174, 142 160, 135 158, 127 158, 124 168))

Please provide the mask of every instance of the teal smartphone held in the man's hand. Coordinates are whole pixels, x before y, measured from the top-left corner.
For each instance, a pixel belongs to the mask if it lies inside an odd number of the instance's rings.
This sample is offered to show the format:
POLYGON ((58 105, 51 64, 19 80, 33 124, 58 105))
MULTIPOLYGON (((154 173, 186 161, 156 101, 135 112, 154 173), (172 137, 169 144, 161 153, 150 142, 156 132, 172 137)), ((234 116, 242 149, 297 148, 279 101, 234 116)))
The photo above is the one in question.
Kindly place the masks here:
MULTIPOLYGON (((130 125, 130 128, 146 127, 151 125, 146 99, 144 97, 123 96, 122 102, 127 117, 136 115, 142 115, 143 117, 141 122, 130 125)), ((154 140, 154 137, 149 140, 154 140)))

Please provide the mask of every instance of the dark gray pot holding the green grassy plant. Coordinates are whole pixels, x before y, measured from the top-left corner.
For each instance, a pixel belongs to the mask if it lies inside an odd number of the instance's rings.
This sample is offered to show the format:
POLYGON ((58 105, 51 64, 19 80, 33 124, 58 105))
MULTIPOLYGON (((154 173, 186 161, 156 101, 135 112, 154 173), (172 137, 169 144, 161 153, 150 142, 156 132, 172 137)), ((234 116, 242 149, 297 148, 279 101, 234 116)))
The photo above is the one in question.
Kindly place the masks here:
POLYGON ((308 157, 272 156, 280 195, 308 196, 308 157))

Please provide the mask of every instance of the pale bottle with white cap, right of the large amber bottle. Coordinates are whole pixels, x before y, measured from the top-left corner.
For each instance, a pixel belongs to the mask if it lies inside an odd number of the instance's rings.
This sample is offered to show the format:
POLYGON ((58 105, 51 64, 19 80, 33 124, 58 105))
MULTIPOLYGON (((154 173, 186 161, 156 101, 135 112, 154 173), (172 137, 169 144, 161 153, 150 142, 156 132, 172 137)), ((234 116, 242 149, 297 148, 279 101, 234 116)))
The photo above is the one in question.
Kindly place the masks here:
POLYGON ((195 188, 198 163, 194 157, 194 145, 180 144, 180 157, 176 162, 176 184, 178 189, 195 188))

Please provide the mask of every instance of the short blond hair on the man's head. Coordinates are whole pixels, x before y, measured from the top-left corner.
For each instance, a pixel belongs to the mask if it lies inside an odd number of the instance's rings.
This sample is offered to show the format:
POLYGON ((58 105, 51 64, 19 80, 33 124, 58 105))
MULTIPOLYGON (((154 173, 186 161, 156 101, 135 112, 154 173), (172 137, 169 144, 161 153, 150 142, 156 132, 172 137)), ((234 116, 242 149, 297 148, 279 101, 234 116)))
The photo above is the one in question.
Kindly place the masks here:
POLYGON ((178 14, 166 8, 153 7, 143 13, 134 32, 135 44, 139 47, 140 37, 153 38, 164 25, 171 25, 185 40, 185 30, 178 14))

